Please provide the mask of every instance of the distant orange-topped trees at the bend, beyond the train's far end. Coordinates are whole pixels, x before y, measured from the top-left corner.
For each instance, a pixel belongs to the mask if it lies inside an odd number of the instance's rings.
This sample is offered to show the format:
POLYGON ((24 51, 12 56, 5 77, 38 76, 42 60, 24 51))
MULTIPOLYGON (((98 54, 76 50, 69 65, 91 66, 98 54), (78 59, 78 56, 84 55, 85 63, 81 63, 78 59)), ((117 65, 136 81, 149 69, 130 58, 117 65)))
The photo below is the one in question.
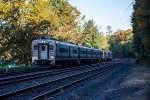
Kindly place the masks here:
POLYGON ((134 57, 132 30, 117 31, 110 36, 110 50, 115 57, 134 57))

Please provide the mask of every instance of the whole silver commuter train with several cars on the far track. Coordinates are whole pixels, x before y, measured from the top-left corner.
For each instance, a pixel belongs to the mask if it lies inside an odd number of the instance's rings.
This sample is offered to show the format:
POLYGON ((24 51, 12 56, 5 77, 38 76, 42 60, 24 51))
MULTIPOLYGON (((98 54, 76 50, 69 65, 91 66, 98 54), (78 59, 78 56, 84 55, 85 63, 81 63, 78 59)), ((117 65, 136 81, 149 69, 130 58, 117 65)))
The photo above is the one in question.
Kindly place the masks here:
POLYGON ((32 64, 71 65, 112 60, 112 52, 41 37, 32 41, 32 64))

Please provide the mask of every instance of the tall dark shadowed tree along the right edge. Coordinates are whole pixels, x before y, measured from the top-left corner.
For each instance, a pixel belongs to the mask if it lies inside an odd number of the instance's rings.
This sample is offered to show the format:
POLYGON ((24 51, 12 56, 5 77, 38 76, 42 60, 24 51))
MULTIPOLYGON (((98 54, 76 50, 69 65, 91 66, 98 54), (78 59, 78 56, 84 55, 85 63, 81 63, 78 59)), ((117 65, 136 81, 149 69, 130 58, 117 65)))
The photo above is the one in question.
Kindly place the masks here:
POLYGON ((150 62, 150 1, 135 0, 132 26, 136 55, 150 62))

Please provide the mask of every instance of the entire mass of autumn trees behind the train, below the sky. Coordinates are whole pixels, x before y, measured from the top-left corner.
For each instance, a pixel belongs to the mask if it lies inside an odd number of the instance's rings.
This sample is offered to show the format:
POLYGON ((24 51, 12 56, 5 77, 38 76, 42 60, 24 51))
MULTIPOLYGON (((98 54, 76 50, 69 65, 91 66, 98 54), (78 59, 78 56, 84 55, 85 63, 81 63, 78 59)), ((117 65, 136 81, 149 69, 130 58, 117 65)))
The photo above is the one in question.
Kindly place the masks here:
POLYGON ((114 34, 111 26, 106 30, 107 35, 103 36, 93 20, 84 22, 84 16, 67 0, 3 0, 0 1, 0 61, 30 64, 31 42, 41 36, 111 49, 116 57, 134 54, 131 30, 114 34))

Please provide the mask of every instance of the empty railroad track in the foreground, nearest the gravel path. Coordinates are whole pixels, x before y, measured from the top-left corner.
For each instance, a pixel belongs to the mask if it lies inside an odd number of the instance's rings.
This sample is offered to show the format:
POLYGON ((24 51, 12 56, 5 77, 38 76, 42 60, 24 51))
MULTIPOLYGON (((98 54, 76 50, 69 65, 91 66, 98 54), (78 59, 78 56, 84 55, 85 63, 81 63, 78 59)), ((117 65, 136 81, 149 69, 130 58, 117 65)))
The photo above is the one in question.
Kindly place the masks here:
POLYGON ((99 64, 92 65, 94 66, 92 69, 89 70, 80 70, 78 72, 71 73, 69 75, 61 75, 59 77, 51 78, 47 82, 43 83, 37 83, 25 88, 20 88, 15 91, 2 93, 0 94, 1 99, 22 99, 20 97, 25 97, 24 99, 41 99, 45 97, 45 95, 54 93, 56 91, 61 90, 62 88, 66 88, 68 86, 71 86, 73 84, 76 84, 78 82, 81 82, 83 80, 86 80, 90 77, 93 77, 95 75, 104 73, 106 71, 109 71, 116 66, 119 65, 119 63, 111 64, 111 65, 104 65, 103 67, 97 67, 99 64), (61 83, 61 84, 60 84, 61 83), (49 88, 49 89, 47 89, 49 88), (48 91, 47 91, 48 90, 48 91), (40 91, 40 92, 37 92, 40 91), (32 94, 31 94, 32 93, 32 94))

